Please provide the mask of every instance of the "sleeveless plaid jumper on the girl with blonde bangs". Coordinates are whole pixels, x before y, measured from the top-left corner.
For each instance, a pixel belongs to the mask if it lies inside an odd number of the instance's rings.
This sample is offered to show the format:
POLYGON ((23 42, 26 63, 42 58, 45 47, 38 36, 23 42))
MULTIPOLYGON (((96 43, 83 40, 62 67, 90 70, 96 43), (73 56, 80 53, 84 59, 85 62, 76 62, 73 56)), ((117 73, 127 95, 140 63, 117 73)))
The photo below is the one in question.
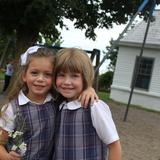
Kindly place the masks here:
POLYGON ((106 145, 92 125, 90 107, 62 109, 58 115, 54 160, 103 160, 106 145))

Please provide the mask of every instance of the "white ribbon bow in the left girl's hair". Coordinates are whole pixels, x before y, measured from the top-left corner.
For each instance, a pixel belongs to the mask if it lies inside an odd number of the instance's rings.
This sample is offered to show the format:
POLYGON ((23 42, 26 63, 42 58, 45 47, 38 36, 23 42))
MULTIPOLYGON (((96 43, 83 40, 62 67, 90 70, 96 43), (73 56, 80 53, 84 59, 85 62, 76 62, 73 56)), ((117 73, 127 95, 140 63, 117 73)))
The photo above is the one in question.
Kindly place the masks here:
POLYGON ((23 65, 26 65, 28 55, 37 52, 37 50, 38 50, 39 48, 42 48, 42 47, 41 47, 41 46, 32 46, 32 47, 29 47, 29 48, 27 49, 27 51, 24 52, 24 53, 21 55, 21 65, 22 65, 22 66, 23 66, 23 65))

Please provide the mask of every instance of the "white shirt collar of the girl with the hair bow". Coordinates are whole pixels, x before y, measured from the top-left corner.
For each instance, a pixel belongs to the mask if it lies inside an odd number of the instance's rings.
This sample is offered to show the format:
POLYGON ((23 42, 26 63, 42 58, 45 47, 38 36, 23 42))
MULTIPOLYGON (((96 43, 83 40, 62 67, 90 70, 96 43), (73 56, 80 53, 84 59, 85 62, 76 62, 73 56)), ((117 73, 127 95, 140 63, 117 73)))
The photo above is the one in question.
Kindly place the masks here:
MULTIPOLYGON (((53 99, 52 95, 48 94, 46 99, 44 100, 43 104, 51 101, 51 99, 53 99)), ((28 102, 32 102, 32 101, 28 97, 26 97, 25 94, 23 93, 23 91, 21 90, 18 95, 18 102, 19 102, 19 105, 24 105, 24 104, 26 104, 28 102)))

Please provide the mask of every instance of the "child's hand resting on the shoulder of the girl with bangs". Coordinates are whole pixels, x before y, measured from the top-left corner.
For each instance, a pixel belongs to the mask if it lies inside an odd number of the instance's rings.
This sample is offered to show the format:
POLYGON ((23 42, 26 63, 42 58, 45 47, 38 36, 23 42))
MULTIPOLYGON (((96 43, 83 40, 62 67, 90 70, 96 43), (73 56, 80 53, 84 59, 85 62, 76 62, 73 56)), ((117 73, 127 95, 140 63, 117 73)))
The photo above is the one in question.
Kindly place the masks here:
POLYGON ((85 108, 89 106, 89 103, 93 104, 94 100, 98 101, 98 99, 99 97, 92 87, 84 90, 78 98, 78 100, 81 102, 81 105, 85 108))

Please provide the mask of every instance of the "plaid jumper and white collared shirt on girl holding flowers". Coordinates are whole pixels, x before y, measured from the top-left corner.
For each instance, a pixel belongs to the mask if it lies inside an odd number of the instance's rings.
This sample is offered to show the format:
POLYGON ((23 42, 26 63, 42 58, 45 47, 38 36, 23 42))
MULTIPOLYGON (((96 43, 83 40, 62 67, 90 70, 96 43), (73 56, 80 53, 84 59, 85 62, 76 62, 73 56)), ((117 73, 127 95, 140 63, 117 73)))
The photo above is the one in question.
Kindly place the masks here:
POLYGON ((0 119, 0 127, 12 132, 20 127, 16 114, 25 120, 23 141, 27 151, 23 160, 49 160, 52 152, 55 131, 55 115, 53 98, 47 95, 43 104, 31 102, 21 91, 18 98, 9 103, 5 111, 7 121, 0 119))

